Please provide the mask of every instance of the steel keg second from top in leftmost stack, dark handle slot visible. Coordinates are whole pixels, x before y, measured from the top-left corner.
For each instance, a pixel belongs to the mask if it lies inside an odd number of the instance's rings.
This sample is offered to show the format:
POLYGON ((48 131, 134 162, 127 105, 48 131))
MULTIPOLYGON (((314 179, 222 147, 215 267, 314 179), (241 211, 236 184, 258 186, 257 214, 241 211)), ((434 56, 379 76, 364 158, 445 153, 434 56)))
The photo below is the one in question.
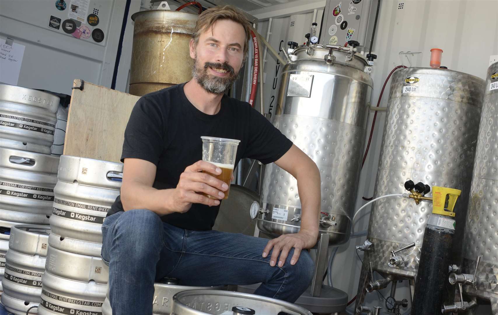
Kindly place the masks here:
POLYGON ((0 220, 48 224, 59 157, 0 148, 0 220))

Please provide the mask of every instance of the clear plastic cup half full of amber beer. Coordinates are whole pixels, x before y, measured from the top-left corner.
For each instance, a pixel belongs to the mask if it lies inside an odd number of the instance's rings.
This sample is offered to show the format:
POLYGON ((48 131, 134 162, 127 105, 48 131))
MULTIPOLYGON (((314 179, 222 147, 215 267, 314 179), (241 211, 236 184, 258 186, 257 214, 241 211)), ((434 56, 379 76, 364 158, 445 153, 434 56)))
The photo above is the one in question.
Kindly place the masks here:
MULTIPOLYGON (((236 139, 226 139, 226 138, 216 138, 216 137, 206 137, 202 136, 202 160, 209 162, 221 168, 221 174, 216 175, 206 171, 203 173, 208 173, 209 175, 216 177, 217 179, 225 182, 228 185, 228 190, 225 193, 225 198, 228 198, 228 193, 230 192, 230 182, 232 174, 234 173, 235 159, 237 156, 237 146, 240 140, 236 139)), ((207 194, 204 196, 211 199, 219 199, 207 194)))

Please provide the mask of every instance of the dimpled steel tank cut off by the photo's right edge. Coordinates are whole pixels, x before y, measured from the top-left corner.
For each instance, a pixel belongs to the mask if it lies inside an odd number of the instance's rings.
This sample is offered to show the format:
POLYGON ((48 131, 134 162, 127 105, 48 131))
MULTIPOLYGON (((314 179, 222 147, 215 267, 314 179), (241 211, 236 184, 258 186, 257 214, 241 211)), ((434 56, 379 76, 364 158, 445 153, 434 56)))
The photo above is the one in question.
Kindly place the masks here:
POLYGON ((498 63, 488 68, 479 126, 476 161, 467 212, 462 272, 474 274, 477 286, 464 285, 464 293, 491 301, 498 315, 498 63))

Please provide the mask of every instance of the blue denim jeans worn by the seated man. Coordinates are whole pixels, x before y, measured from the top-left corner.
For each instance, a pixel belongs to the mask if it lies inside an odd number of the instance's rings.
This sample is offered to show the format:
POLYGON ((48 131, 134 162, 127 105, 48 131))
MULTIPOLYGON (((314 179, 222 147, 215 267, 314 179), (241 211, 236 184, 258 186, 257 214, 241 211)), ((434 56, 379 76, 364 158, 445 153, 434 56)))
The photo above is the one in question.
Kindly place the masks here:
POLYGON ((152 314, 154 282, 185 286, 262 284, 254 294, 295 302, 308 288, 314 262, 306 250, 295 265, 292 249, 282 267, 261 256, 267 239, 228 232, 192 231, 161 221, 150 210, 129 210, 102 225, 102 259, 109 265, 114 314, 152 314))

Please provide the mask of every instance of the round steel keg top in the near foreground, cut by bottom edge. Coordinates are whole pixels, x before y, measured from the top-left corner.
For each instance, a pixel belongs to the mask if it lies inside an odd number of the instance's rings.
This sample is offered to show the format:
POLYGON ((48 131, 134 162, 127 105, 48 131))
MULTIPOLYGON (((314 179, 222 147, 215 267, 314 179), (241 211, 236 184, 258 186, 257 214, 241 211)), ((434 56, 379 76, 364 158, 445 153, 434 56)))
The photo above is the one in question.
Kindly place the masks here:
POLYGON ((171 314, 222 314, 232 311, 235 306, 252 309, 255 311, 255 315, 279 314, 280 312, 294 315, 312 315, 308 310, 285 301, 254 294, 219 290, 179 292, 173 296, 171 314))

